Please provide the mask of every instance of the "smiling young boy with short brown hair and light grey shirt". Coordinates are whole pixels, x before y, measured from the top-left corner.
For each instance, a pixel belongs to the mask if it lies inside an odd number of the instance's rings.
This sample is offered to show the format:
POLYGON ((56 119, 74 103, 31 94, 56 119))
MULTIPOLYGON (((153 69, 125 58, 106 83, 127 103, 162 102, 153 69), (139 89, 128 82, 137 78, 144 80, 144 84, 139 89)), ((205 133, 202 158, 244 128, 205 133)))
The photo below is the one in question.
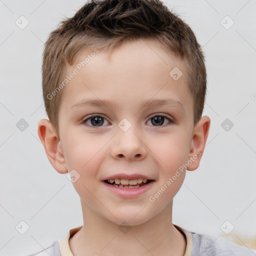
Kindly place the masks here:
POLYGON ((42 88, 38 135, 84 224, 35 255, 256 255, 172 224, 210 119, 200 45, 159 0, 87 2, 47 39, 42 88))

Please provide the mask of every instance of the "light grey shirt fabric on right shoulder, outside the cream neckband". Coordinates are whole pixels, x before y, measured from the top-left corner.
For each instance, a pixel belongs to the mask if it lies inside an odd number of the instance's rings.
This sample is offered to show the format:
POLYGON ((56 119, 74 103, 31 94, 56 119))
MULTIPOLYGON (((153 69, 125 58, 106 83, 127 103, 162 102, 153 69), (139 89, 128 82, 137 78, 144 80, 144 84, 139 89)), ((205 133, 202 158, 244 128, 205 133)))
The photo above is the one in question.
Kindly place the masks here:
POLYGON ((256 250, 230 242, 223 237, 192 233, 191 256, 253 256, 256 250))

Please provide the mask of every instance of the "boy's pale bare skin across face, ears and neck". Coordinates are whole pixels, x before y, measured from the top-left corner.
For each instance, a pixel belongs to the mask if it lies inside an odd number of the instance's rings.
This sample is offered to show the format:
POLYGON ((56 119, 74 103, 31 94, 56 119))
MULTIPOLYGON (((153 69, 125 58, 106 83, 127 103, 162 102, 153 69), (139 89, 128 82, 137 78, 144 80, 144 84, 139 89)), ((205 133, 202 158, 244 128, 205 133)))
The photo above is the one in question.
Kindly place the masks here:
MULTIPOLYGON (((75 64, 87 54, 80 53, 75 64)), ((172 199, 185 171, 155 201, 148 198, 196 152, 201 154, 187 170, 199 166, 210 119, 202 116, 193 125, 184 63, 160 46, 141 40, 118 46, 109 59, 106 56, 99 50, 64 88, 59 139, 49 120, 38 124, 52 166, 59 173, 74 169, 80 175, 73 186, 80 196, 84 225, 69 239, 70 249, 74 256, 183 256, 186 241, 172 224, 172 199), (176 81, 169 75, 175 66, 183 72, 176 81), (112 100, 115 107, 73 106, 87 98, 112 100), (175 99, 182 106, 140 107, 142 101, 156 98, 175 99), (159 113, 167 118, 157 125, 151 118, 159 113), (82 122, 91 114, 104 117, 100 126, 93 126, 93 118, 82 122), (118 126, 123 118, 131 124, 127 131, 118 126), (101 183, 116 173, 144 174, 154 181, 141 195, 122 198, 101 183), (123 221, 131 227, 127 233, 118 228, 123 221)), ((67 74, 75 64, 67 67, 67 74)))

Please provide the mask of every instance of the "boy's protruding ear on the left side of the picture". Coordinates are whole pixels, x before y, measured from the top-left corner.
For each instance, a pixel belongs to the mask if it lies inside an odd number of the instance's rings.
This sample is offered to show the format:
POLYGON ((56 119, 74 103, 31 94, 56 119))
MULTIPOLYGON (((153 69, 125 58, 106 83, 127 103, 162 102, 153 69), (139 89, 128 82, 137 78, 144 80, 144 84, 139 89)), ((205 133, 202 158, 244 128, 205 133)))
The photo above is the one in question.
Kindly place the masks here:
POLYGON ((53 168, 59 173, 67 173, 66 162, 60 140, 52 126, 51 121, 41 119, 38 122, 38 136, 44 146, 45 153, 53 168))

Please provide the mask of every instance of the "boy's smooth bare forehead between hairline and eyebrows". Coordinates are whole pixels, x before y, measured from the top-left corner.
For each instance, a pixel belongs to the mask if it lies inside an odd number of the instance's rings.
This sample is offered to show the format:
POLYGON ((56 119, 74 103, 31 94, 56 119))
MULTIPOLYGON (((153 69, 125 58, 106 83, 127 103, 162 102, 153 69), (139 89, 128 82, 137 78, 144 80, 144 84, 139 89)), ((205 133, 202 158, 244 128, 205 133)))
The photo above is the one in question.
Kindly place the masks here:
POLYGON ((66 106, 85 98, 110 100, 118 109, 141 106, 141 101, 172 98, 188 111, 188 91, 183 60, 149 40, 126 42, 111 50, 81 51, 66 74, 75 75, 65 86, 66 106))

